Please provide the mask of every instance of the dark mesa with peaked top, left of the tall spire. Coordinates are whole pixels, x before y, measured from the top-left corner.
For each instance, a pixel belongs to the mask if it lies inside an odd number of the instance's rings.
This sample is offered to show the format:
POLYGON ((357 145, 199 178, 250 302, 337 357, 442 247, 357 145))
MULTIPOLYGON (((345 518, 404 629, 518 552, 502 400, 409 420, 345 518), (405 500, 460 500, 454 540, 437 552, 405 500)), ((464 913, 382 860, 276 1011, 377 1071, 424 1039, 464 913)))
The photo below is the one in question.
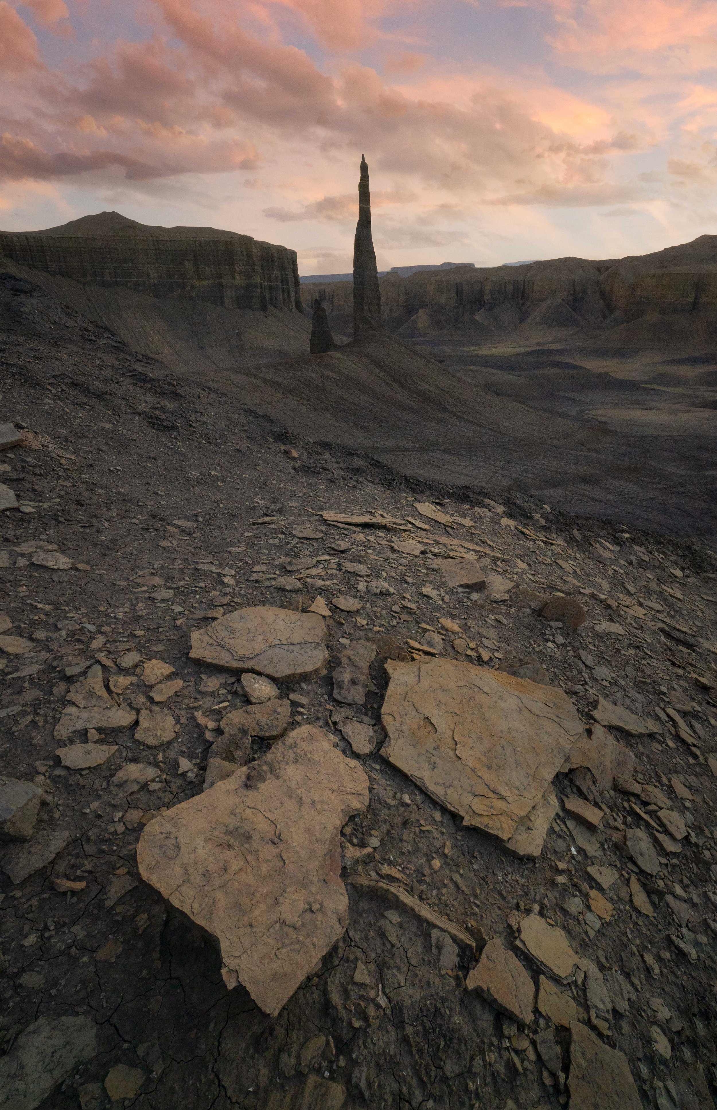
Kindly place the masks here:
POLYGON ((83 285, 224 309, 302 311, 296 253, 213 228, 151 228, 118 212, 0 232, 0 254, 83 285))

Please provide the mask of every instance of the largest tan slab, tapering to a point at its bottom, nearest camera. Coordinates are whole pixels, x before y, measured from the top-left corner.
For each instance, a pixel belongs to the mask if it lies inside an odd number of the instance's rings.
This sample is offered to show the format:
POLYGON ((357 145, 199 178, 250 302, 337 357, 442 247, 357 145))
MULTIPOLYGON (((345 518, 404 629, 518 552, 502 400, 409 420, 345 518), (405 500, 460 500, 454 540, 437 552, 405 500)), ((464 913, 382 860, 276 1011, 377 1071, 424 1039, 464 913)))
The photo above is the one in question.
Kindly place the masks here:
POLYGON ((361 765, 304 726, 142 833, 142 878, 216 938, 222 976, 275 1017, 341 937, 340 834, 368 805, 361 765))

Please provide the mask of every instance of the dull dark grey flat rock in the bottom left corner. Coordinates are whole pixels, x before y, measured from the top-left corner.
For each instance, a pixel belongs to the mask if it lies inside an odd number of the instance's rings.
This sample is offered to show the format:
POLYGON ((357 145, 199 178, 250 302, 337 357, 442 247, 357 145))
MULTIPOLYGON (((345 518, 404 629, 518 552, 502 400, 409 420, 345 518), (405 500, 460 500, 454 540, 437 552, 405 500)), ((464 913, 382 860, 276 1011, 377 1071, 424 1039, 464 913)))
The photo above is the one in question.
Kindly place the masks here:
POLYGON ((0 1059, 0 1107, 34 1110, 95 1053, 97 1026, 89 1015, 38 1018, 0 1059))

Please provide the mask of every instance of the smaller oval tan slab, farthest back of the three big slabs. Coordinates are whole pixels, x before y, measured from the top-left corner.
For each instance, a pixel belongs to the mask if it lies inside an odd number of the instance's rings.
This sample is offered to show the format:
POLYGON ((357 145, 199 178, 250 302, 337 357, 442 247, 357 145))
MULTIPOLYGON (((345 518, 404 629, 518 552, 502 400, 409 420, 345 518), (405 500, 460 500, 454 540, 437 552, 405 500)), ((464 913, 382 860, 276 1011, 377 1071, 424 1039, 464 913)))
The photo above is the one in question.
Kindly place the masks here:
POLYGON ((323 617, 316 613, 255 605, 193 632, 190 658, 290 682, 324 670, 325 637, 323 617))

